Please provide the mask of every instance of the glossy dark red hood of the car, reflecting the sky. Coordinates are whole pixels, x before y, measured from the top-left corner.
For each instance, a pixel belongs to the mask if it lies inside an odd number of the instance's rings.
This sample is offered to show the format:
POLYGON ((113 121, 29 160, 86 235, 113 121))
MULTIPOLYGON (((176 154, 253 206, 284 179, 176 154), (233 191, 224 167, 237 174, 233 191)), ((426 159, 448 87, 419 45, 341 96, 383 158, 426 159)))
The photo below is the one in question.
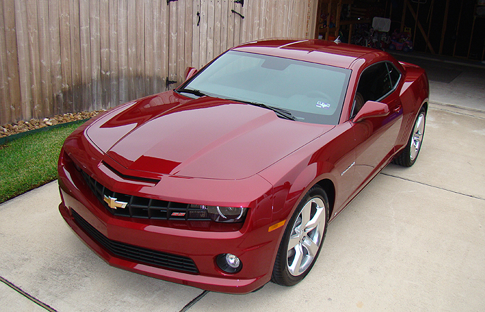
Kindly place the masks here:
POLYGON ((243 179, 331 128, 253 105, 164 92, 107 112, 85 133, 105 162, 130 171, 243 179))

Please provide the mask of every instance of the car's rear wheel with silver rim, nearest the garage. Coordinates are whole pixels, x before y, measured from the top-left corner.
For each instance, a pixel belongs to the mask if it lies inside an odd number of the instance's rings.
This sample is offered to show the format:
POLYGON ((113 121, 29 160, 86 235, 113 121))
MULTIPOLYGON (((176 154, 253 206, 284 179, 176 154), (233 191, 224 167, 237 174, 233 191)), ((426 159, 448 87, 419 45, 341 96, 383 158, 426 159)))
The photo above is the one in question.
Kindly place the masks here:
POLYGON ((416 121, 412 128, 411 135, 407 140, 406 147, 393 159, 393 163, 399 166, 410 167, 418 159, 419 152, 421 151, 421 145, 423 144, 423 137, 426 124, 426 110, 421 107, 418 112, 416 121), (416 146, 418 144, 418 146, 416 146))

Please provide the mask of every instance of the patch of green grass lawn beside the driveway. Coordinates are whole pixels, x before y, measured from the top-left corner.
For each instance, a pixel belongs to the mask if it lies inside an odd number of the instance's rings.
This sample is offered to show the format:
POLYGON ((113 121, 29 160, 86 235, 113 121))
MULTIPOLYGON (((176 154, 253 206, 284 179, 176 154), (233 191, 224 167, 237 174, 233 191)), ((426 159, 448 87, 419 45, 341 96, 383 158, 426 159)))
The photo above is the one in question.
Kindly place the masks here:
POLYGON ((0 146, 0 202, 57 179, 62 144, 80 125, 70 123, 0 146))

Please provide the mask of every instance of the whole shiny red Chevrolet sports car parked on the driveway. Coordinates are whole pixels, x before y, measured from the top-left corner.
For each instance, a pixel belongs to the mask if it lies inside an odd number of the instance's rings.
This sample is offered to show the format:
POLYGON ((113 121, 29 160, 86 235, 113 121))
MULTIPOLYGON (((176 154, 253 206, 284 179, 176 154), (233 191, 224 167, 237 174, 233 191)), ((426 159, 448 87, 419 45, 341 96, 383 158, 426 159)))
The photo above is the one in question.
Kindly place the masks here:
POLYGON ((426 73, 383 51, 249 42, 67 138, 60 213, 107 263, 224 293, 290 286, 389 162, 412 166, 426 73))

